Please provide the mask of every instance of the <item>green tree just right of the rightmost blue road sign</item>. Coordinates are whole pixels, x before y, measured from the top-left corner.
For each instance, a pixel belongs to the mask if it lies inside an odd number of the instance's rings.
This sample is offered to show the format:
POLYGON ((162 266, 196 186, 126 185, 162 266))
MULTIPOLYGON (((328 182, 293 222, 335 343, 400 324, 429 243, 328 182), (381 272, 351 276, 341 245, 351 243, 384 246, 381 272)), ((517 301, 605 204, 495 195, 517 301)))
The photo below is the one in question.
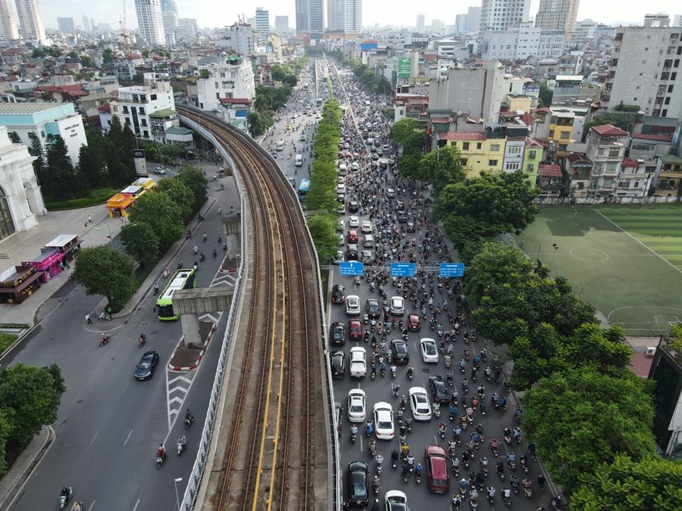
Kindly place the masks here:
POLYGON ((530 277, 533 267, 532 261, 518 248, 496 241, 485 243, 466 268, 466 298, 478 305, 486 289, 525 281, 530 277))

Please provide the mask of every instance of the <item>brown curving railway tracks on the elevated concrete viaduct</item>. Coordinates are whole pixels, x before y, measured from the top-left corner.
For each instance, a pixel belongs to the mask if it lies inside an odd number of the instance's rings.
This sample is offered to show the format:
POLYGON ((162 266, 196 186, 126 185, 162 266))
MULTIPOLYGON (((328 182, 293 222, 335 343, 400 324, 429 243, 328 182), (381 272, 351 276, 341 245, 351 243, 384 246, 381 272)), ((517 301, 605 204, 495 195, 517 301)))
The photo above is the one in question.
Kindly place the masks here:
POLYGON ((243 362, 239 377, 230 377, 236 383, 220 421, 223 455, 216 455, 202 509, 314 509, 313 482, 321 479, 315 470, 328 468, 325 440, 315 437, 326 413, 315 250, 291 185, 264 151, 214 117, 182 107, 180 113, 233 149, 246 197, 243 236, 253 253, 244 307, 251 316, 239 326, 243 362))

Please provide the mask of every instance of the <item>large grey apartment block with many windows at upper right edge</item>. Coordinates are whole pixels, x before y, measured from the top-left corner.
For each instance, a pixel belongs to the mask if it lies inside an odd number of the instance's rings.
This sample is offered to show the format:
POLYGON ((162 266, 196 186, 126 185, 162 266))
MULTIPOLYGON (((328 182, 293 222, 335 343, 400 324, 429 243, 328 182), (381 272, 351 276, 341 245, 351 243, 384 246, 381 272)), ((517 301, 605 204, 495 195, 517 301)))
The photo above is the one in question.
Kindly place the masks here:
POLYGON ((602 107, 637 105, 644 115, 682 118, 682 29, 619 27, 602 107))

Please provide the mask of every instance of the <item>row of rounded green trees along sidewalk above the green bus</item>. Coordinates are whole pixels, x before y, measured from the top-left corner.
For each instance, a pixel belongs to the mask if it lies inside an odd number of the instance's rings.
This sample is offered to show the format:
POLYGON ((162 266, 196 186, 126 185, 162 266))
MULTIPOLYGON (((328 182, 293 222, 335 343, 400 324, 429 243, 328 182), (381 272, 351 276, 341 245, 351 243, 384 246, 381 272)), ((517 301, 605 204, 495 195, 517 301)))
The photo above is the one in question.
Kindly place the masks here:
POLYGON ((118 312, 207 200, 206 178, 200 168, 183 165, 175 178, 161 179, 130 208, 129 225, 121 229, 125 252, 111 245, 85 248, 74 279, 88 295, 104 295, 118 312), (138 268, 136 271, 136 267, 138 268))

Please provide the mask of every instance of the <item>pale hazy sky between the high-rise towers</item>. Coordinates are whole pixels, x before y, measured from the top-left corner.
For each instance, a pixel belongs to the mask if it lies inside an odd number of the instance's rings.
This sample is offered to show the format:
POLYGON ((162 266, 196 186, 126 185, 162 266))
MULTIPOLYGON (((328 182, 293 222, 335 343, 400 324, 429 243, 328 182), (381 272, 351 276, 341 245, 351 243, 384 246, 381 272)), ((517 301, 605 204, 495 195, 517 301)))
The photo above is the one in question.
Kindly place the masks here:
MULTIPOLYGON (((200 27, 231 25, 237 17, 253 17, 256 7, 270 11, 270 24, 276 15, 289 16, 289 26, 294 27, 295 0, 176 0, 179 17, 196 18, 200 27)), ((118 29, 122 19, 125 2, 126 24, 129 28, 137 26, 134 0, 38 0, 46 28, 57 27, 57 17, 73 17, 76 25, 81 25, 81 17, 87 15, 96 23, 109 23, 118 29)), ((364 0, 363 25, 379 23, 415 26, 418 14, 431 19, 441 19, 445 24, 454 24, 455 15, 466 13, 469 6, 480 6, 481 0, 461 0, 455 2, 429 1, 427 5, 408 0, 364 0), (444 9, 447 6, 447 10, 444 9)), ((325 2, 326 6, 326 2, 325 2)), ((537 13, 539 0, 531 0, 530 15, 537 13)), ((649 6, 634 0, 582 0, 578 10, 578 20, 591 18, 596 22, 633 22, 640 23, 645 13, 668 13, 671 18, 682 14, 682 4, 676 0, 654 0, 649 6)))

